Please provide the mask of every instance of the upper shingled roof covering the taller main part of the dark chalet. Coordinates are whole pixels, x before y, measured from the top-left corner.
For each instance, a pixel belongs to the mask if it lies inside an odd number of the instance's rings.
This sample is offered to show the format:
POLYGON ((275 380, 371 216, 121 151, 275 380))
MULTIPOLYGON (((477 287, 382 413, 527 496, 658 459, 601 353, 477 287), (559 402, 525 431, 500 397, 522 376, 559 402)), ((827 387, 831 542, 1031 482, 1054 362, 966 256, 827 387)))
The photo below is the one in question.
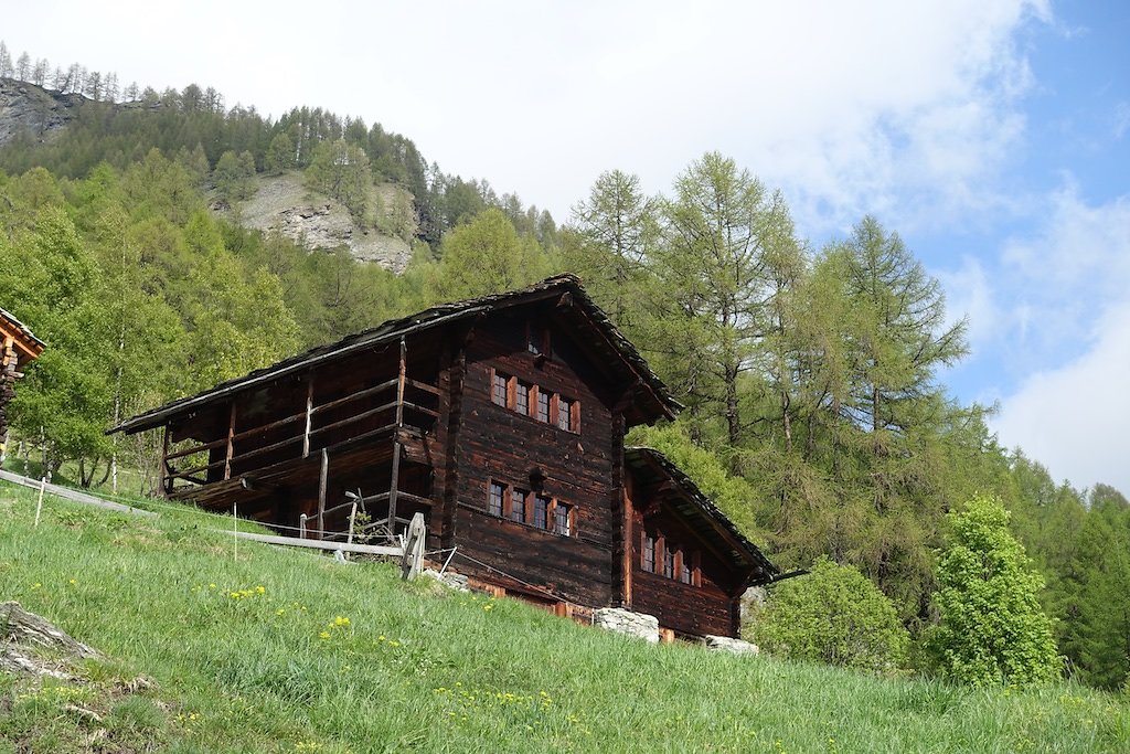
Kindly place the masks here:
POLYGON ((525 288, 468 298, 450 304, 441 304, 409 317, 389 320, 375 328, 346 336, 341 340, 329 345, 316 346, 271 366, 255 370, 242 378, 221 382, 210 390, 174 400, 145 414, 134 416, 108 430, 107 434, 114 432, 132 434, 151 430, 165 424, 171 417, 202 408, 209 404, 225 399, 232 393, 277 380, 287 374, 302 372, 322 362, 342 358, 353 353, 379 347, 427 329, 452 324, 510 306, 562 295, 570 296, 570 303, 573 307, 599 333, 600 338, 589 345, 596 347, 598 352, 607 356, 619 358, 631 370, 634 380, 651 393, 659 413, 669 418, 673 417, 683 407, 671 396, 667 385, 651 370, 635 346, 624 337, 624 333, 608 319, 603 310, 589 296, 581 286, 581 280, 575 275, 566 274, 547 278, 541 283, 525 288))

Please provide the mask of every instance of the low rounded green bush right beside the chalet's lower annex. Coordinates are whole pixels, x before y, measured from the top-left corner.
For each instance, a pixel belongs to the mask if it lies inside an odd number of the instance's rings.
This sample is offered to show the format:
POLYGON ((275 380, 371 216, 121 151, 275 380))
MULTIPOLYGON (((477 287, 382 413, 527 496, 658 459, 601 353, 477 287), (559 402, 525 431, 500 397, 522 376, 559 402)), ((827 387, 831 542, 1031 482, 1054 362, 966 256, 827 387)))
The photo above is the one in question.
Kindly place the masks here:
POLYGON ((910 643, 878 587, 827 557, 774 587, 751 633, 773 655, 877 671, 899 667, 910 643))

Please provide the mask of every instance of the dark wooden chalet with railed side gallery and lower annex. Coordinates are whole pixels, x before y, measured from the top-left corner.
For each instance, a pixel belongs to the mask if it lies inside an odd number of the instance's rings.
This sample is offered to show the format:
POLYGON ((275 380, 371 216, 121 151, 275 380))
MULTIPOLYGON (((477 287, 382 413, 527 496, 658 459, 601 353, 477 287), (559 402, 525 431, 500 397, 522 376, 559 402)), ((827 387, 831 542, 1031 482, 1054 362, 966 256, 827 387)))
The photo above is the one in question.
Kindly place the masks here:
POLYGON ((679 408, 573 276, 436 306, 114 427, 164 428, 173 500, 292 536, 395 536, 480 587, 669 634, 737 635, 779 570, 661 453, 679 408), (359 505, 368 523, 349 518, 359 505))

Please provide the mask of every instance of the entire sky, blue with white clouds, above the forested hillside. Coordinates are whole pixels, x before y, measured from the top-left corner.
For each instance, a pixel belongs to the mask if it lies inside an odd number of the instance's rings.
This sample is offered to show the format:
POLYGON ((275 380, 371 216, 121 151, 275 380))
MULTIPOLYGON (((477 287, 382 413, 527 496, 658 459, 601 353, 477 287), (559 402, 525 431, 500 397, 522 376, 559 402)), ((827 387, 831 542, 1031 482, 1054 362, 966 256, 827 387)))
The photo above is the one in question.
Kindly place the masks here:
POLYGON ((3 38, 229 105, 381 122, 560 220, 706 150, 819 248, 897 231, 970 318, 942 375, 1007 447, 1130 494, 1130 6, 1053 0, 11 3, 3 38), (777 7, 781 6, 781 7, 777 7))

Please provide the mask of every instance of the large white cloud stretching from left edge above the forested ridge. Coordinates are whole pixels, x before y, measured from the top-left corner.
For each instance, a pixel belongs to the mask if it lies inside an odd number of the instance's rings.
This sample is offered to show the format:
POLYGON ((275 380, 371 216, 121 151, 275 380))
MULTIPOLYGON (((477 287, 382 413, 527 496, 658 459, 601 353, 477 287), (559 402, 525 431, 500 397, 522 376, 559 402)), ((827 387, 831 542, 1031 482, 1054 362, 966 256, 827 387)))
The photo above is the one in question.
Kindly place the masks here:
POLYGON ((123 81, 380 121, 562 219, 601 171, 666 190, 718 149, 820 234, 864 211, 905 232, 1001 201, 985 179, 1024 133, 1016 37, 1032 19, 1051 21, 1046 0, 43 0, 8 9, 3 35, 123 81))

